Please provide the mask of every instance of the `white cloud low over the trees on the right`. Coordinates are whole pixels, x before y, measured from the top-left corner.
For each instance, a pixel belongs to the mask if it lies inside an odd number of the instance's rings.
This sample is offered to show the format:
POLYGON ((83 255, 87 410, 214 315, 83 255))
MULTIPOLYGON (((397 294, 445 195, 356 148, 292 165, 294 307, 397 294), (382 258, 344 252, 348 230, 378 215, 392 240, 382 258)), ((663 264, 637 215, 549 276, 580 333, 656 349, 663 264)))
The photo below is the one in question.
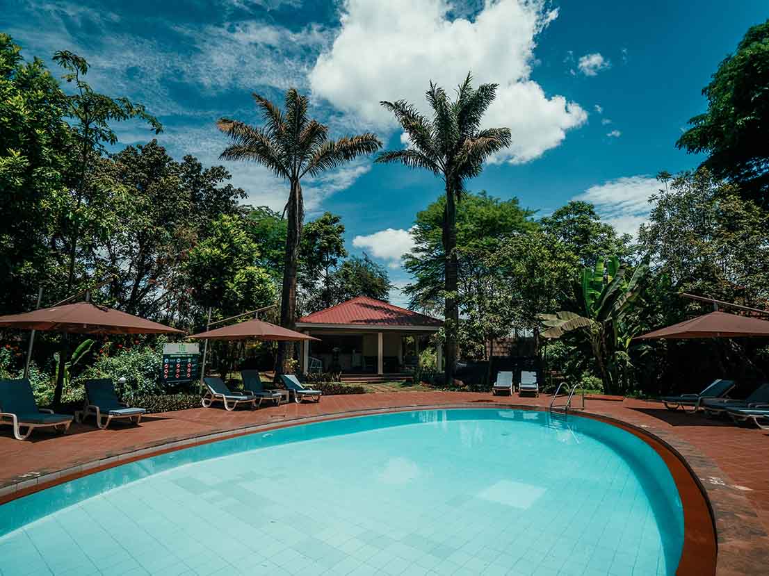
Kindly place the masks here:
POLYGON ((596 184, 572 200, 584 200, 595 205, 603 220, 620 233, 638 233, 647 222, 651 204, 649 197, 659 190, 657 179, 650 176, 627 176, 596 184))

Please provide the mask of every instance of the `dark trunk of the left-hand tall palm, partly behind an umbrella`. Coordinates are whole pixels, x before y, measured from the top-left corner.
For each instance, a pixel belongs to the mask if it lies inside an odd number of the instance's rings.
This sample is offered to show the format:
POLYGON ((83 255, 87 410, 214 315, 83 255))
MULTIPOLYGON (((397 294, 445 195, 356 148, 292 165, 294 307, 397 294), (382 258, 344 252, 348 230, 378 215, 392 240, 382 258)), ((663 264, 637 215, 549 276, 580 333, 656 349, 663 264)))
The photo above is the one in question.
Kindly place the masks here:
MULTIPOLYGON (((301 225, 304 218, 305 210, 301 198, 301 184, 299 184, 299 180, 292 180, 291 193, 288 196, 288 233, 286 234, 283 289, 281 291, 281 326, 291 330, 295 328, 296 322, 296 274, 301 225)), ((291 360, 294 359, 294 351, 294 343, 279 343, 276 366, 278 373, 291 373, 291 360)))

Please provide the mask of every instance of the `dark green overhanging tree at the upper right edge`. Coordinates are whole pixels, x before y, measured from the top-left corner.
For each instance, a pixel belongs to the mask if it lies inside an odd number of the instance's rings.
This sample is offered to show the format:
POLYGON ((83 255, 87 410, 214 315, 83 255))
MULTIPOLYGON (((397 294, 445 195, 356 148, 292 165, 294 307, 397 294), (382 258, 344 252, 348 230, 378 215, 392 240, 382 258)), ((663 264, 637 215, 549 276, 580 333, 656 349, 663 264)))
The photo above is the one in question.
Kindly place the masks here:
POLYGON ((769 20, 748 28, 702 90, 707 111, 691 118, 676 146, 707 154, 703 167, 769 204, 769 20))

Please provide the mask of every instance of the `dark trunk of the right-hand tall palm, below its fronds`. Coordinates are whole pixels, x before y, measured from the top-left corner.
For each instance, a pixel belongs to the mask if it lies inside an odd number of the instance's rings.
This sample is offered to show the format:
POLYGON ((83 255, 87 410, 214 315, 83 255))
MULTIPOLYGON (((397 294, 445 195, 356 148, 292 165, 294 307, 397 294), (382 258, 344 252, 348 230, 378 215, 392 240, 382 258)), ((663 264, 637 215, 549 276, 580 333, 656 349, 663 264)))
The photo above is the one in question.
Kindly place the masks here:
POLYGON ((459 327, 459 306, 457 303, 458 268, 457 261, 457 206, 454 190, 446 184, 446 213, 443 225, 444 250, 444 329, 446 332, 446 385, 454 384, 454 369, 457 363, 457 330, 459 327))

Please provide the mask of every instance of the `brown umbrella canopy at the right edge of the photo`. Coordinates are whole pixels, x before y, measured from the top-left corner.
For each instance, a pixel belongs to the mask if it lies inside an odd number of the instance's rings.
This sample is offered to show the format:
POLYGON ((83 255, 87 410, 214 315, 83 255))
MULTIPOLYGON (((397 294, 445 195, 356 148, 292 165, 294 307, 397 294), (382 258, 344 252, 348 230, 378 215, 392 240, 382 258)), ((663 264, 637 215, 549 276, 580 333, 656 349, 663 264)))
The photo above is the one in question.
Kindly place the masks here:
POLYGON ((769 322, 751 316, 711 312, 637 336, 636 339, 736 338, 740 336, 769 336, 769 322))

